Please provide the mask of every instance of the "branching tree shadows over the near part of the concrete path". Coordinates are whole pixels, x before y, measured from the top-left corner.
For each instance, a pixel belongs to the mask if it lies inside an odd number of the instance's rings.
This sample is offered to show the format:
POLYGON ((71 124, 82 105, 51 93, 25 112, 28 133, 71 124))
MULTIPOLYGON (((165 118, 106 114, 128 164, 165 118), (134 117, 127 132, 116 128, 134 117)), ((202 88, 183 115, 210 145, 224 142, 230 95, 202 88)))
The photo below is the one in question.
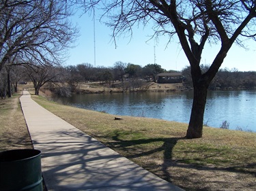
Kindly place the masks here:
POLYGON ((81 131, 47 131, 33 137, 37 140, 33 141, 34 147, 42 151, 43 175, 49 190, 171 188, 81 131))

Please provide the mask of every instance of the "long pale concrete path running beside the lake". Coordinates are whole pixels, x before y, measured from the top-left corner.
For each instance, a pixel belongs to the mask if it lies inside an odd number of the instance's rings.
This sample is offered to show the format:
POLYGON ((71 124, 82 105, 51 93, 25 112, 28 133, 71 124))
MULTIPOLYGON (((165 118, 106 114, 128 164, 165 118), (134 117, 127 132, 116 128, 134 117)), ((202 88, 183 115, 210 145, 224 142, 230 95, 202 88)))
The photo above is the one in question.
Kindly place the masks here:
POLYGON ((23 114, 51 190, 182 190, 44 109, 24 91, 23 114))

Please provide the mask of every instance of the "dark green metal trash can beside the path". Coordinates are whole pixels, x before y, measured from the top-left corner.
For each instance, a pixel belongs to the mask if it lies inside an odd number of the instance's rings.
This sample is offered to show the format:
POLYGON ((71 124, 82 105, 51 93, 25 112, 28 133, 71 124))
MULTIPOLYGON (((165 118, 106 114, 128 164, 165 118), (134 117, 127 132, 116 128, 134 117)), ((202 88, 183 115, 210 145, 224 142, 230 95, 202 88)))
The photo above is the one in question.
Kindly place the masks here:
POLYGON ((40 150, 0 152, 0 190, 42 191, 40 150))

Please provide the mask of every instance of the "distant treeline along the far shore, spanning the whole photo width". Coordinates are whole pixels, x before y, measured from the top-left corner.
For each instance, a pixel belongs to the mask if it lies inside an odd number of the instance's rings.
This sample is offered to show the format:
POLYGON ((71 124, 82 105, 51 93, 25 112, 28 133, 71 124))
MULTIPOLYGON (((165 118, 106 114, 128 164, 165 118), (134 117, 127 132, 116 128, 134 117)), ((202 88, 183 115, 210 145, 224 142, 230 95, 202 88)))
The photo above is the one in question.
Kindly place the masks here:
MULTIPOLYGON (((209 66, 201 65, 202 71, 209 66)), ((160 65, 148 64, 145 67, 132 63, 116 62, 113 67, 94 67, 89 63, 67 67, 48 65, 10 65, 0 72, 0 97, 11 97, 17 92, 18 84, 32 82, 35 94, 44 85, 54 87, 58 94, 67 95, 76 92, 79 82, 101 82, 109 88, 122 87, 123 90, 138 90, 144 82, 156 82, 158 73, 177 73, 167 71, 160 65), (120 82, 119 84, 114 82, 120 82), (56 88, 57 87, 57 88, 56 88)), ((193 88, 190 67, 182 70, 184 85, 193 88)), ((220 69, 210 84, 210 90, 255 90, 256 71, 238 71, 220 69)))

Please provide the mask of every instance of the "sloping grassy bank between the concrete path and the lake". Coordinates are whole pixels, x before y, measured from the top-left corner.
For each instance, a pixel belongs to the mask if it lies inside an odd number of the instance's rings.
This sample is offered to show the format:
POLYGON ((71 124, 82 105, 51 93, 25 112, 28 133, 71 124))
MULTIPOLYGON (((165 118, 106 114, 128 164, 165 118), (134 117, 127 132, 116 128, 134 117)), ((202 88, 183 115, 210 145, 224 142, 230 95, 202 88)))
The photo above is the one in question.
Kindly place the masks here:
POLYGON ((42 97, 33 99, 185 190, 256 190, 256 133, 204 127, 203 138, 184 139, 187 124, 113 116, 59 105, 42 97))

